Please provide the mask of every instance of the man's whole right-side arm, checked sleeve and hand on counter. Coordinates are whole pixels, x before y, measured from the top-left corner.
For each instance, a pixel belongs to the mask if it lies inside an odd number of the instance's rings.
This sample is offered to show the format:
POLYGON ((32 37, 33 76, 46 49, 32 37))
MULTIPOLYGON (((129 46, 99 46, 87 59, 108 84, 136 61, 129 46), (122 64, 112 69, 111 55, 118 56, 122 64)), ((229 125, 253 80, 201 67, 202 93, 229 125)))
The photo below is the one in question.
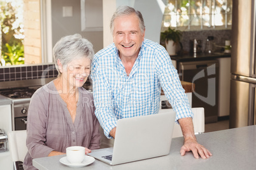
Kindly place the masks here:
POLYGON ((196 158, 199 158, 199 155, 202 158, 208 158, 211 153, 197 143, 191 118, 193 114, 188 103, 187 95, 184 93, 185 90, 181 86, 177 70, 173 67, 167 51, 164 48, 162 49, 156 58, 155 68, 159 72, 162 89, 176 112, 176 121, 179 122, 184 136, 184 144, 181 147, 180 154, 185 155, 185 152, 192 151, 196 158))

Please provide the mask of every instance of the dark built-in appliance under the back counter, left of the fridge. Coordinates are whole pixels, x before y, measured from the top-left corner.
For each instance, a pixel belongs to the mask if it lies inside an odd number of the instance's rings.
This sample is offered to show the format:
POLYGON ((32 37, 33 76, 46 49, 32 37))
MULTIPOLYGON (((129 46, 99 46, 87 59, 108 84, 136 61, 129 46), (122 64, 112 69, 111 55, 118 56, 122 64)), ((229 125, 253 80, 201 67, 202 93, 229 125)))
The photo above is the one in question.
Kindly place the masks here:
POLYGON ((181 81, 195 84, 192 93, 192 108, 204 108, 204 122, 218 121, 218 60, 180 62, 178 67, 181 81))

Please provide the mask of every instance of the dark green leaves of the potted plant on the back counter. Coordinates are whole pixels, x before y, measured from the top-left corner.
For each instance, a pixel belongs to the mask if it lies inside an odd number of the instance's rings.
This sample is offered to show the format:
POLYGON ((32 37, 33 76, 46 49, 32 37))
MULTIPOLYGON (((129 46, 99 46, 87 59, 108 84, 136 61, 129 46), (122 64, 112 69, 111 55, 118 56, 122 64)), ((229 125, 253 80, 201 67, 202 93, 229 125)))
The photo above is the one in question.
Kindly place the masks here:
POLYGON ((174 43, 179 43, 181 38, 181 31, 174 30, 174 29, 171 29, 171 27, 168 27, 167 30, 165 30, 164 32, 161 32, 160 37, 164 41, 173 40, 174 43))

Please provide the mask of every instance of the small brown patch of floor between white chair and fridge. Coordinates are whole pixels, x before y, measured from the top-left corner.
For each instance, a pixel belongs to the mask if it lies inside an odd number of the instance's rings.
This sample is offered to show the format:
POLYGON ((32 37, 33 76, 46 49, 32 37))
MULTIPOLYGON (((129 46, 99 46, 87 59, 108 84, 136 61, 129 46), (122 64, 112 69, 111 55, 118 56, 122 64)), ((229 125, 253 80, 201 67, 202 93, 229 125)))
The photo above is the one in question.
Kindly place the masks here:
POLYGON ((229 129, 229 120, 205 124, 204 133, 229 129))

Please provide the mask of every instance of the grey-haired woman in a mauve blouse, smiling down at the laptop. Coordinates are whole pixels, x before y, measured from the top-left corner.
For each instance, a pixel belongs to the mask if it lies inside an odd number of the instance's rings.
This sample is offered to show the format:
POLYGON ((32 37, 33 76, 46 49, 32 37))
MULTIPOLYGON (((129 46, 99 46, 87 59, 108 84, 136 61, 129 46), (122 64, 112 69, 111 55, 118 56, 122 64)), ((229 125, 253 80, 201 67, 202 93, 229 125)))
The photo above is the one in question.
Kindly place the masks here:
POLYGON ((80 34, 62 37, 55 44, 53 57, 59 75, 31 98, 24 169, 36 169, 34 158, 66 154, 67 147, 85 147, 85 154, 99 148, 92 94, 82 88, 93 56, 92 44, 80 34))

